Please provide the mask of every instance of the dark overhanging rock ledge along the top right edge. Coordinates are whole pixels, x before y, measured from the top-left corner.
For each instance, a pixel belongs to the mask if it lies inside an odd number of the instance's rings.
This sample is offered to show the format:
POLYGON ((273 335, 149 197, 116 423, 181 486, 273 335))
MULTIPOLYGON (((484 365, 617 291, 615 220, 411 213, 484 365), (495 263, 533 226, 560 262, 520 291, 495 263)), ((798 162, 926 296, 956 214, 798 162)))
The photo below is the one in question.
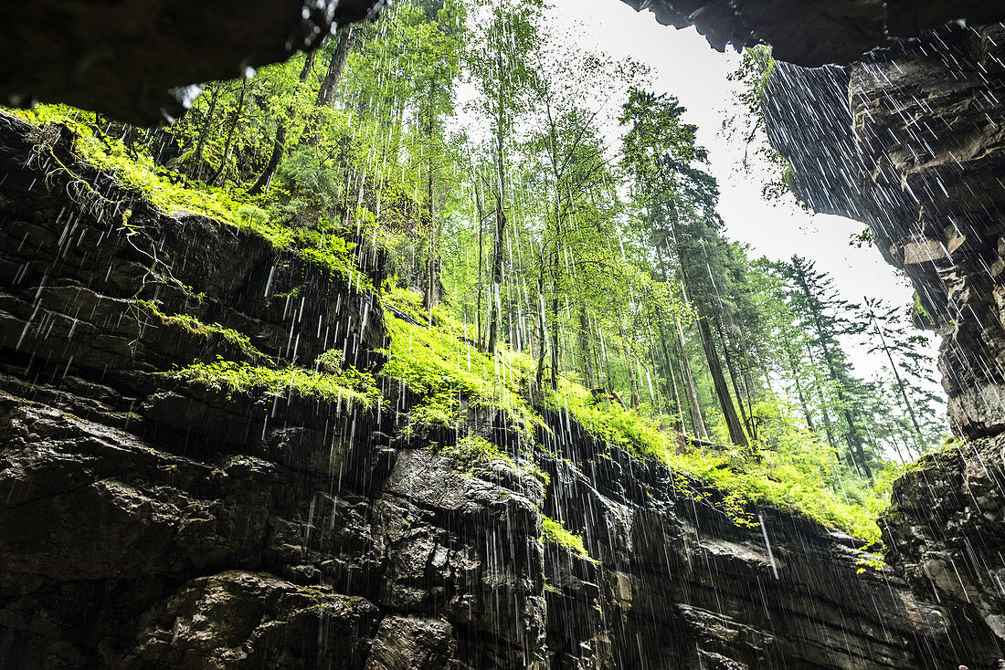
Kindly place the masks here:
POLYGON ((770 44, 775 58, 816 67, 857 60, 876 47, 947 22, 1005 20, 997 0, 624 0, 664 25, 693 25, 715 48, 770 44))

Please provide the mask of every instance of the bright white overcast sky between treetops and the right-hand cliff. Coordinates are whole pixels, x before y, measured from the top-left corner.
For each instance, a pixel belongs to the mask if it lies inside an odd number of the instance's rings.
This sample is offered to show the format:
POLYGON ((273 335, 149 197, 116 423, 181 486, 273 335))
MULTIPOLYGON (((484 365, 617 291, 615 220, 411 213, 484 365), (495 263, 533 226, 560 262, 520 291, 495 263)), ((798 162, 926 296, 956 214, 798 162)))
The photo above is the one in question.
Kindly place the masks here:
MULTIPOLYGON (((775 206, 762 197, 757 175, 737 170, 744 148, 731 146, 721 129, 734 99, 733 84, 726 77, 739 64, 739 54, 719 53, 693 28, 661 26, 652 13, 636 12, 617 0, 552 2, 553 20, 570 39, 614 58, 631 56, 648 64, 655 92, 676 95, 687 107, 686 121, 698 127, 698 142, 710 150, 710 172, 719 180, 720 213, 731 239, 749 243, 754 255, 786 259, 798 253, 814 260, 818 269, 834 277, 845 299, 860 302, 868 295, 890 304, 911 303, 913 289, 902 273, 875 248, 849 244, 863 224, 811 214, 794 201, 775 206)), ((871 377, 881 362, 869 358, 864 351, 852 353, 859 374, 871 377)))

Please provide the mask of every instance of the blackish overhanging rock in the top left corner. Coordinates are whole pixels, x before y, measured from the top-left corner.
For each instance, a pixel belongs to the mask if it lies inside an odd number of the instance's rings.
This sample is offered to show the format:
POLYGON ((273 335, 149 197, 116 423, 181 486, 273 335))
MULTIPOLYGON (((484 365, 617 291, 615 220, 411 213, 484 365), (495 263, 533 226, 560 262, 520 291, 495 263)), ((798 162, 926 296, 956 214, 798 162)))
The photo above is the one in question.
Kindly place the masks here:
POLYGON ((0 100, 65 102, 144 126, 184 111, 187 86, 311 48, 377 0, 32 0, 0 7, 0 100))

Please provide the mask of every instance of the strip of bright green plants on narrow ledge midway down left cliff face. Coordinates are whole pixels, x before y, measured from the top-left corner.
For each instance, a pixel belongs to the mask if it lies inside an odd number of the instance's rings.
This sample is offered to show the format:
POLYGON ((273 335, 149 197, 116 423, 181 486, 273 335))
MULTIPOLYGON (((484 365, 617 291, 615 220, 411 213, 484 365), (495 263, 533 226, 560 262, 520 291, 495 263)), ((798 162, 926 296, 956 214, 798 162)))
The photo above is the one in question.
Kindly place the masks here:
POLYGON ((363 408, 375 407, 382 398, 373 377, 352 368, 331 374, 299 368, 274 370, 220 360, 215 363, 196 363, 168 375, 179 381, 226 391, 228 396, 250 391, 262 391, 276 396, 294 393, 330 403, 345 402, 363 408))

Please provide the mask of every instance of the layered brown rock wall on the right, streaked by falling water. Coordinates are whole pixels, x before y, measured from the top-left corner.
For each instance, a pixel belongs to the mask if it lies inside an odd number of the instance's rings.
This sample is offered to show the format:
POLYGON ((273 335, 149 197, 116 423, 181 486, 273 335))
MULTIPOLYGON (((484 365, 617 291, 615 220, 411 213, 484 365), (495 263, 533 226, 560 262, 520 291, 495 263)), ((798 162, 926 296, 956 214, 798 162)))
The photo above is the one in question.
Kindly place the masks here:
POLYGON ((942 30, 843 68, 782 65, 766 105, 797 194, 867 223, 943 338, 968 441, 896 483, 885 527, 919 598, 986 658, 1005 648, 1003 61, 1005 26, 942 30))

